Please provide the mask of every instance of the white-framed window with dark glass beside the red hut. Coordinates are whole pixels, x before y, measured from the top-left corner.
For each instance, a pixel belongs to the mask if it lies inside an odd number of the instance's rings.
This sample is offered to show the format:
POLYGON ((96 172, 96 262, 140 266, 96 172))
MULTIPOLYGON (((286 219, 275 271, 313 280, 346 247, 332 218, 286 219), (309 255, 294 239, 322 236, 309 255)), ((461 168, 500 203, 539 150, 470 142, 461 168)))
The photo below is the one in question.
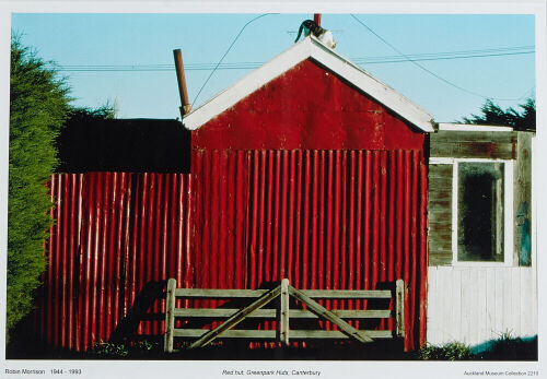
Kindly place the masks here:
POLYGON ((512 163, 454 159, 455 263, 512 263, 512 163))

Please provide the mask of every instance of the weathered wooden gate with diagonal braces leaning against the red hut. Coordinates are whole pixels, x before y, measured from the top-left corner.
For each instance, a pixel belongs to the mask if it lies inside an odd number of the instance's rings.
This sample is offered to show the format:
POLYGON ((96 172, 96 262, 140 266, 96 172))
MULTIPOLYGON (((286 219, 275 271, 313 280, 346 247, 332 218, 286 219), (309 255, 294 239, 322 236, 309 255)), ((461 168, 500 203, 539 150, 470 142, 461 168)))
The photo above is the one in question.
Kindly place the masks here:
MULTIPOLYGON (((174 337, 197 337, 188 348, 202 347, 217 337, 279 340, 282 345, 289 344, 289 337, 303 339, 352 339, 360 343, 373 342, 373 339, 395 339, 405 336, 404 319, 404 282, 397 280, 395 291, 389 289, 296 289, 283 279, 274 289, 205 289, 177 288, 176 280, 167 281, 164 351, 174 352, 174 337), (294 297, 307 309, 290 309, 289 298, 294 297), (234 299, 256 298, 248 306, 236 308, 176 308, 175 299, 207 298, 234 299), (275 298, 280 297, 277 309, 263 309, 275 298), (325 299, 394 299, 393 309, 337 309, 328 310, 315 301, 325 299), (219 327, 208 329, 176 329, 175 318, 228 318, 219 327), (234 330, 232 329, 246 318, 279 319, 278 330, 234 330), (322 319, 330 321, 339 330, 292 330, 290 319, 322 319), (382 319, 394 318, 394 330, 358 330, 344 319, 382 319)), ((391 301, 389 301, 391 303, 391 301)))

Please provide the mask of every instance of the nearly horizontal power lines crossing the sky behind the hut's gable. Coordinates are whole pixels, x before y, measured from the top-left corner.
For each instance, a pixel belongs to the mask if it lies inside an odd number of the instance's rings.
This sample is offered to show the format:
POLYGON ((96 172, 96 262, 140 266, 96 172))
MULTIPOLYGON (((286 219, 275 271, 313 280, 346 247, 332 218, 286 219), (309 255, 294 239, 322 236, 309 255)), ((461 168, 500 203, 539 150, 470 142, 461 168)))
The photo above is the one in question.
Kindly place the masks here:
MULTIPOLYGON (((357 64, 381 64, 381 63, 405 63, 408 61, 428 61, 428 60, 453 60, 453 59, 469 59, 469 58, 486 58, 486 57, 502 57, 535 54, 535 50, 529 50, 533 47, 517 46, 512 48, 499 49, 480 49, 465 51, 445 51, 445 52, 426 52, 407 55, 410 59, 400 56, 379 56, 379 57, 358 57, 351 58, 357 64), (527 50, 525 50, 527 49, 527 50), (490 51, 490 52, 489 52, 490 51), (496 52, 500 51, 500 52, 496 52), (507 51, 507 52, 502 52, 507 51), (467 52, 468 55, 462 55, 467 52)), ((265 62, 231 62, 221 63, 189 63, 185 64, 186 71, 205 71, 212 70, 251 70, 263 66, 265 62)), ((173 71, 174 64, 65 64, 56 66, 57 71, 65 72, 131 72, 131 71, 173 71)))

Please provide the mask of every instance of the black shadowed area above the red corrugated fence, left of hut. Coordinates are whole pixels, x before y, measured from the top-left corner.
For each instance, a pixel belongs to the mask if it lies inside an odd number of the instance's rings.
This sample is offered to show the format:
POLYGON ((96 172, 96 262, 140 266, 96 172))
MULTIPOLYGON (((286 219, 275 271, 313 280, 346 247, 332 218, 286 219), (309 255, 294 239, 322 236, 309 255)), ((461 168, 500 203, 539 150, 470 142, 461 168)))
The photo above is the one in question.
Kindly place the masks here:
POLYGON ((73 118, 57 142, 58 173, 190 170, 190 131, 178 120, 73 118))

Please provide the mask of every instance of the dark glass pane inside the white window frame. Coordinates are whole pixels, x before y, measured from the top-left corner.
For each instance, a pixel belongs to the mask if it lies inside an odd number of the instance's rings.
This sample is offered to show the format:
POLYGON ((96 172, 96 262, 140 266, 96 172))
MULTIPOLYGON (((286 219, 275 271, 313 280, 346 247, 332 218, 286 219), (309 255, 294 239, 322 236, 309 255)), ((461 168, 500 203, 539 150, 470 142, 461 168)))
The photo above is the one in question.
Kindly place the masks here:
POLYGON ((503 163, 461 162, 457 260, 503 262, 503 163))

